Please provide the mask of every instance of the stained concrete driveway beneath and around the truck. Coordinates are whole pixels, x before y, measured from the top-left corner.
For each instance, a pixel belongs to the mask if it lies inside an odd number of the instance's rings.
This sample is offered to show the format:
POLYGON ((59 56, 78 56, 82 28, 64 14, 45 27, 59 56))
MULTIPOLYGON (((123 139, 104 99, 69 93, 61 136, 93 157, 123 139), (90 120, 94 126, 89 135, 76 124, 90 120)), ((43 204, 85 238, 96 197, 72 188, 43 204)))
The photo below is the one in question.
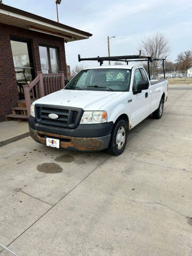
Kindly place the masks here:
POLYGON ((192 255, 191 155, 192 90, 178 87, 162 119, 132 129, 118 157, 30 137, 9 143, 0 148, 0 244, 19 256, 192 255))

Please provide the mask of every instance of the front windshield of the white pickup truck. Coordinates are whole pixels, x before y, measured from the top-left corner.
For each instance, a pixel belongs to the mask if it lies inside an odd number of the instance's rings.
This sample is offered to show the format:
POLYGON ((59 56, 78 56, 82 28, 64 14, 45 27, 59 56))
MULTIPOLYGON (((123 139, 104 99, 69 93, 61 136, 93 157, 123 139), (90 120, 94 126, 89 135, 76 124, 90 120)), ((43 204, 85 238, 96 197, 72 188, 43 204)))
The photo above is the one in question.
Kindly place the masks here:
POLYGON ((65 90, 126 91, 130 77, 130 69, 85 69, 67 84, 65 90))

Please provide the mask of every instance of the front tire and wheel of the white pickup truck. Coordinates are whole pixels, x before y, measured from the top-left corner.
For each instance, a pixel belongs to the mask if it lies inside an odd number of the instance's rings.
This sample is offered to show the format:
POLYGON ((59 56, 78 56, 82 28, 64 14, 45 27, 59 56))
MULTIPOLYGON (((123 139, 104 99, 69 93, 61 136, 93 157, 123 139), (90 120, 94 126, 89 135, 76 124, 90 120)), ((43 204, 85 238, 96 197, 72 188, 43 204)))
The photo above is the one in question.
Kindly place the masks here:
POLYGON ((119 119, 114 124, 113 131, 111 132, 109 147, 106 149, 108 154, 118 156, 123 153, 127 141, 127 132, 127 123, 124 119, 119 119))

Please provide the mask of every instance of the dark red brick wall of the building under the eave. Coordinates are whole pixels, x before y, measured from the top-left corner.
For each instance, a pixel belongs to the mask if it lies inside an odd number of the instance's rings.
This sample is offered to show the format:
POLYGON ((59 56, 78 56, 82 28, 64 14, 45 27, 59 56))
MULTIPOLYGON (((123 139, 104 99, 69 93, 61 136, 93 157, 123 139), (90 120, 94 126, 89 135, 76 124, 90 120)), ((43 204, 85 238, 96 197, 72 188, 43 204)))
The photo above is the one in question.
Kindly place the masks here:
POLYGON ((35 71, 41 71, 38 45, 44 44, 58 47, 60 71, 65 71, 65 76, 67 77, 63 38, 0 23, 0 121, 4 120, 5 115, 11 113, 11 108, 16 107, 18 101, 10 36, 30 39, 35 71))

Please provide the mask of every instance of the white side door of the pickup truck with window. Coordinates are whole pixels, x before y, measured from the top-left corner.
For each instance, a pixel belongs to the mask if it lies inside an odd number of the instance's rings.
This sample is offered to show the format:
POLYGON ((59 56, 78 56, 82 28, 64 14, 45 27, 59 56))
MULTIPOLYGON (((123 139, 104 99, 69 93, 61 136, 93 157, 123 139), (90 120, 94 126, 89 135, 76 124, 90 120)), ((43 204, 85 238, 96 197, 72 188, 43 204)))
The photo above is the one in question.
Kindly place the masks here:
POLYGON ((131 108, 131 124, 132 127, 140 123, 143 119, 145 119, 149 115, 150 105, 151 105, 151 89, 150 83, 149 88, 147 90, 142 90, 139 93, 135 94, 137 91, 137 85, 141 80, 147 80, 147 75, 142 68, 137 68, 134 70, 133 78, 132 78, 132 101, 129 103, 129 107, 131 108))

